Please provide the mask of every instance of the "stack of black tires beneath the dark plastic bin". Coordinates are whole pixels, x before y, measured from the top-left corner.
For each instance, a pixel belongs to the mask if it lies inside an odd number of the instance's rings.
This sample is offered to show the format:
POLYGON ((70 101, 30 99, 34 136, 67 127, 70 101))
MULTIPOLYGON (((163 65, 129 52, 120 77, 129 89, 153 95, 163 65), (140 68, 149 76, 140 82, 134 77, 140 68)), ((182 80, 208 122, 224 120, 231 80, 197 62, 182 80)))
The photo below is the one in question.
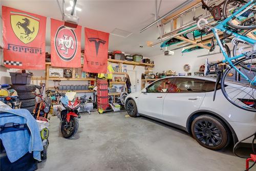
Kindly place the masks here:
POLYGON ((12 88, 16 90, 18 94, 18 99, 22 102, 20 104, 20 109, 27 109, 31 114, 35 108, 35 85, 33 84, 12 84, 12 88))

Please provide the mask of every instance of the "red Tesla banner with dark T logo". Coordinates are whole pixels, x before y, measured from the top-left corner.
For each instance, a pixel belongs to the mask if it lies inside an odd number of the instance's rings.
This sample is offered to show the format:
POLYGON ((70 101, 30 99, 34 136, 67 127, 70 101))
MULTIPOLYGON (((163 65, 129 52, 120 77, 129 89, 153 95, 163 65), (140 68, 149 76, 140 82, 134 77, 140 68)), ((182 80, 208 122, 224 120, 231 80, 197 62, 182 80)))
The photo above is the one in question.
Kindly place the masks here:
POLYGON ((84 35, 83 71, 106 73, 110 33, 84 28, 84 35))

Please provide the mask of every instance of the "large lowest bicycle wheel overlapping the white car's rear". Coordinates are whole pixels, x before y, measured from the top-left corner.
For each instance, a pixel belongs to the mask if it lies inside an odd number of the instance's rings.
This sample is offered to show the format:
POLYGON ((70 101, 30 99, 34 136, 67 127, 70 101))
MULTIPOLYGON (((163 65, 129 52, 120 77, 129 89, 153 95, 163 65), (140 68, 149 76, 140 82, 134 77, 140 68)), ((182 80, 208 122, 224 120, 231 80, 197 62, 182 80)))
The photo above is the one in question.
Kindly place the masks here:
MULTIPOLYGON (((255 58, 255 57, 253 57, 255 58)), ((233 63, 233 65, 240 69, 250 80, 256 77, 255 71, 249 71, 240 67, 240 63, 246 63, 250 59, 243 58, 233 63)), ((246 111, 256 112, 256 86, 253 86, 245 78, 234 74, 236 70, 232 67, 225 70, 221 78, 221 90, 226 99, 233 105, 246 111)))

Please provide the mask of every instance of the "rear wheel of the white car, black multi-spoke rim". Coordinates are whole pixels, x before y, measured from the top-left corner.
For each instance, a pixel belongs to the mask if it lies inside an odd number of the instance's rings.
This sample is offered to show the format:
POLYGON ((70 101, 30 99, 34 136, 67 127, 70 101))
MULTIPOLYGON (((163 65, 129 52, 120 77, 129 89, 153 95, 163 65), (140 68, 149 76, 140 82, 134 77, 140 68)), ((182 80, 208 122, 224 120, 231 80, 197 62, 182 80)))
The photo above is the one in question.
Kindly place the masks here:
POLYGON ((191 124, 191 132, 200 145, 209 149, 219 150, 229 144, 230 135, 225 124, 209 115, 195 118, 191 124))

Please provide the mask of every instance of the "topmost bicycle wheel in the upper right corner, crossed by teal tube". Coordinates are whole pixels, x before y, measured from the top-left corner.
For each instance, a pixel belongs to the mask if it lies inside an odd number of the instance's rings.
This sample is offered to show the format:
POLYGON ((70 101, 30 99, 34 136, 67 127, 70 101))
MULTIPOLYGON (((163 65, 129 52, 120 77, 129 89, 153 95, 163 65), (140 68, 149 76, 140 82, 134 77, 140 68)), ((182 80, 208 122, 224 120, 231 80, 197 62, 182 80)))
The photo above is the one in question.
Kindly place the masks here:
MULTIPOLYGON (((247 1, 243 1, 243 0, 240 0, 240 1, 227 0, 227 1, 225 1, 224 6, 223 6, 224 18, 228 17, 234 11, 242 8, 247 2, 248 2, 248 0, 247 1), (233 8, 228 9, 229 5, 232 5, 233 8)), ((256 16, 255 9, 254 9, 254 7, 252 7, 234 19, 235 20, 234 23, 237 23, 237 24, 233 24, 230 21, 227 24, 234 29, 240 29, 240 30, 256 29, 255 16, 256 16)))

